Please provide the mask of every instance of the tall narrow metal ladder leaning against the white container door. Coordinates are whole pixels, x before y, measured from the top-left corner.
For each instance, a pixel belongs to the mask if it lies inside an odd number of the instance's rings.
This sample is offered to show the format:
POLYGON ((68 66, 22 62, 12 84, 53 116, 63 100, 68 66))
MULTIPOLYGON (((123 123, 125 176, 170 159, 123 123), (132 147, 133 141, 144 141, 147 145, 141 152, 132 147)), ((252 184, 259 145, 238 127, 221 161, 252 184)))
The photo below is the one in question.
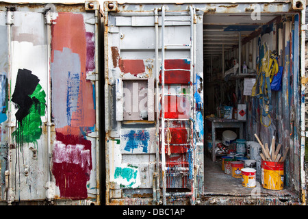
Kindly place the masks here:
MULTIPOLYGON (((164 34, 165 34, 165 22, 166 21, 175 21, 174 19, 168 20, 168 18, 165 17, 165 7, 162 6, 162 131, 161 131, 161 141, 162 141, 162 196, 163 196, 163 205, 166 205, 166 197, 176 197, 176 196, 190 196, 190 201, 192 205, 195 205, 196 203, 196 190, 195 190, 195 172, 194 172, 194 146, 196 143, 195 136, 194 136, 194 60, 195 60, 195 9, 190 6, 190 44, 165 44, 164 40, 164 34), (190 49, 190 69, 165 69, 165 50, 166 49, 172 49, 172 48, 185 48, 190 49), (167 70, 188 70, 190 72, 190 118, 165 118, 165 110, 164 110, 164 97, 167 96, 165 94, 164 88, 165 88, 165 71, 167 70), (189 154, 189 161, 188 161, 188 168, 186 167, 174 167, 172 170, 181 170, 181 171, 188 171, 189 172, 189 179, 190 182, 190 192, 166 192, 166 171, 170 170, 170 168, 166 167, 166 142, 165 142, 165 122, 166 120, 180 120, 180 121, 187 121, 190 125, 189 127, 189 136, 190 139, 190 148, 188 149, 190 153, 189 154)), ((177 13, 177 12, 172 12, 177 13)), ((181 22, 182 20, 177 20, 177 22, 181 22)), ((185 22, 188 22, 188 20, 185 20, 185 22)), ((185 144, 183 144, 185 145, 185 144)))

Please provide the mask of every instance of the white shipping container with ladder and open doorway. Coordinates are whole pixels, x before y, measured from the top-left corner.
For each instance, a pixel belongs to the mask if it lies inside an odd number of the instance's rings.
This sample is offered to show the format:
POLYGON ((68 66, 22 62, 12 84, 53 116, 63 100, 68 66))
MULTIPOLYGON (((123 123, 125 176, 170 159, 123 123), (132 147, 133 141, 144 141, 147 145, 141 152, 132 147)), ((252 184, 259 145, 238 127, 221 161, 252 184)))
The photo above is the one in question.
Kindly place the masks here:
POLYGON ((305 204, 305 7, 104 1, 105 203, 305 204))

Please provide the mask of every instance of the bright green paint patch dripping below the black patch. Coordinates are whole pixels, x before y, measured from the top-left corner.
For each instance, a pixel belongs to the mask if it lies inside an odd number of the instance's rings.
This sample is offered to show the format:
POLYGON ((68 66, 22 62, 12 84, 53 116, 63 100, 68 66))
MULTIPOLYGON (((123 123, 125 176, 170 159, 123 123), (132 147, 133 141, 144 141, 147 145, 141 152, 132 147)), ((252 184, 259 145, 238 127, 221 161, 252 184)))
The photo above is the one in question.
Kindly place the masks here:
POLYGON ((35 143, 42 135, 42 119, 46 108, 46 94, 38 83, 36 90, 30 95, 34 103, 29 109, 29 114, 17 122, 16 131, 12 133, 18 144, 35 143))

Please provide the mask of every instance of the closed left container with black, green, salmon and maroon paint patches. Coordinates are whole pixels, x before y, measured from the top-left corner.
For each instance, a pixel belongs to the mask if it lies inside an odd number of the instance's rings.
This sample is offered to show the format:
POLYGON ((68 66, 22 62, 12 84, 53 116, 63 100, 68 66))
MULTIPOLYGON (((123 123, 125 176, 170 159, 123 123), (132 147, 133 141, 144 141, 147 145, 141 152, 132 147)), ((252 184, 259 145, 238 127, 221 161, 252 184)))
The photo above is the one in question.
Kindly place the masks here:
POLYGON ((0 3, 1 204, 99 205, 97 1, 0 3))

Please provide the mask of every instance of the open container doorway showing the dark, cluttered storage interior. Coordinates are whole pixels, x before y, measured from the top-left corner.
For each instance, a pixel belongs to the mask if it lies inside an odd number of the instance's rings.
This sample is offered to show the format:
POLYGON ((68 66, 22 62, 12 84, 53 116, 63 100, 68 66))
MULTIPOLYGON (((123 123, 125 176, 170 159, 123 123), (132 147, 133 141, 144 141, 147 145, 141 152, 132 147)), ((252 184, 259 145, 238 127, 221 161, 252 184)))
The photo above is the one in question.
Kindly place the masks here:
POLYGON ((285 66, 285 54, 290 49, 287 48, 290 43, 287 34, 292 34, 292 21, 294 15, 270 13, 262 14, 257 20, 251 18, 251 13, 209 13, 203 17, 205 195, 293 196, 288 172, 290 161, 285 162, 287 179, 283 179, 283 190, 267 190, 261 185, 261 157, 251 157, 248 145, 248 142, 257 143, 255 133, 269 144, 271 136, 276 139, 276 145, 285 143, 281 121, 277 120, 285 114, 281 110, 285 94, 272 92, 272 117, 267 120, 260 112, 259 100, 251 91, 265 44, 275 54, 279 66, 285 66), (227 136, 227 132, 234 136, 227 136), (237 140, 246 142, 244 152, 237 151, 237 140), (242 177, 225 173, 222 159, 226 156, 243 164, 244 159, 255 159, 255 188, 246 188, 242 185, 242 177))

